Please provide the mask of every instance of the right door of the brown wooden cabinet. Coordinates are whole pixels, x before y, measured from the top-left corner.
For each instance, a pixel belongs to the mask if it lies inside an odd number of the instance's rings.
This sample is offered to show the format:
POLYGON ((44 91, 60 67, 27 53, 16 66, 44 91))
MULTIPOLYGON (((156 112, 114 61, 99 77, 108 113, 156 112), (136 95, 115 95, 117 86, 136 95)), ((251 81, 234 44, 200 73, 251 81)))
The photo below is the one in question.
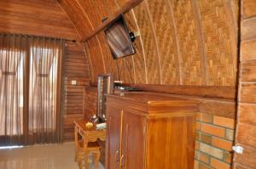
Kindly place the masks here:
POLYGON ((122 169, 143 169, 146 118, 131 112, 124 112, 122 132, 122 169))

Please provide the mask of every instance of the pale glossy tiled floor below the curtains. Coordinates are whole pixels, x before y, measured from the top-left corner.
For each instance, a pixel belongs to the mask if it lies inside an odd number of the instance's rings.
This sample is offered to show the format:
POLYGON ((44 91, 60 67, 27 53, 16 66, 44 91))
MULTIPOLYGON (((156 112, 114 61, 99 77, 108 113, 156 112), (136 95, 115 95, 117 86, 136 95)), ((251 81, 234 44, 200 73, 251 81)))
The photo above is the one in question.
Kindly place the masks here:
MULTIPOLYGON (((0 149, 0 169, 78 169, 74 143, 0 149)), ((90 164, 90 168, 95 168, 90 164)), ((100 165, 100 169, 104 167, 100 165)))

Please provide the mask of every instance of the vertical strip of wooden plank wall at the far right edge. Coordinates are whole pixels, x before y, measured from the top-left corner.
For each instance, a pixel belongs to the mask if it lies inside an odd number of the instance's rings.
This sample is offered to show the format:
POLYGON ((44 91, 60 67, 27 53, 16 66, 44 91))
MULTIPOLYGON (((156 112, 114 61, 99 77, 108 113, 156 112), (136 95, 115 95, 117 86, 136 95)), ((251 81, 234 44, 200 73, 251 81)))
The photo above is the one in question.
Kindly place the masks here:
POLYGON ((241 55, 234 168, 256 168, 256 1, 241 1, 241 55))

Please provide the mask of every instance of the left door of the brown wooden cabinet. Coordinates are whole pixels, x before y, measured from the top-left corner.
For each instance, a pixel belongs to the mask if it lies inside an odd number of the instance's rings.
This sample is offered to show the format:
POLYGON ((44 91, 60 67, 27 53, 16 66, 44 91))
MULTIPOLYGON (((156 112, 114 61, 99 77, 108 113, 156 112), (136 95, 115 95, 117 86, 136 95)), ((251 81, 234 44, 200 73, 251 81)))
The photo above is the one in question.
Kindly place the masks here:
POLYGON ((120 158, 120 134, 123 111, 108 106, 106 168, 118 169, 120 158))

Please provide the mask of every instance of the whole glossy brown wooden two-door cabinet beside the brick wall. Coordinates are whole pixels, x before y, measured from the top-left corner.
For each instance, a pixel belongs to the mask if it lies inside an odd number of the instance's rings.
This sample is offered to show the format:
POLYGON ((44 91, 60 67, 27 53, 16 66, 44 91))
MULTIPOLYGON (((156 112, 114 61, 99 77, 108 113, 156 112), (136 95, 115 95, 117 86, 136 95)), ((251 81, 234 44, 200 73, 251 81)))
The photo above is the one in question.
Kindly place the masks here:
POLYGON ((106 168, 194 168, 196 110, 167 94, 108 95, 106 168))

